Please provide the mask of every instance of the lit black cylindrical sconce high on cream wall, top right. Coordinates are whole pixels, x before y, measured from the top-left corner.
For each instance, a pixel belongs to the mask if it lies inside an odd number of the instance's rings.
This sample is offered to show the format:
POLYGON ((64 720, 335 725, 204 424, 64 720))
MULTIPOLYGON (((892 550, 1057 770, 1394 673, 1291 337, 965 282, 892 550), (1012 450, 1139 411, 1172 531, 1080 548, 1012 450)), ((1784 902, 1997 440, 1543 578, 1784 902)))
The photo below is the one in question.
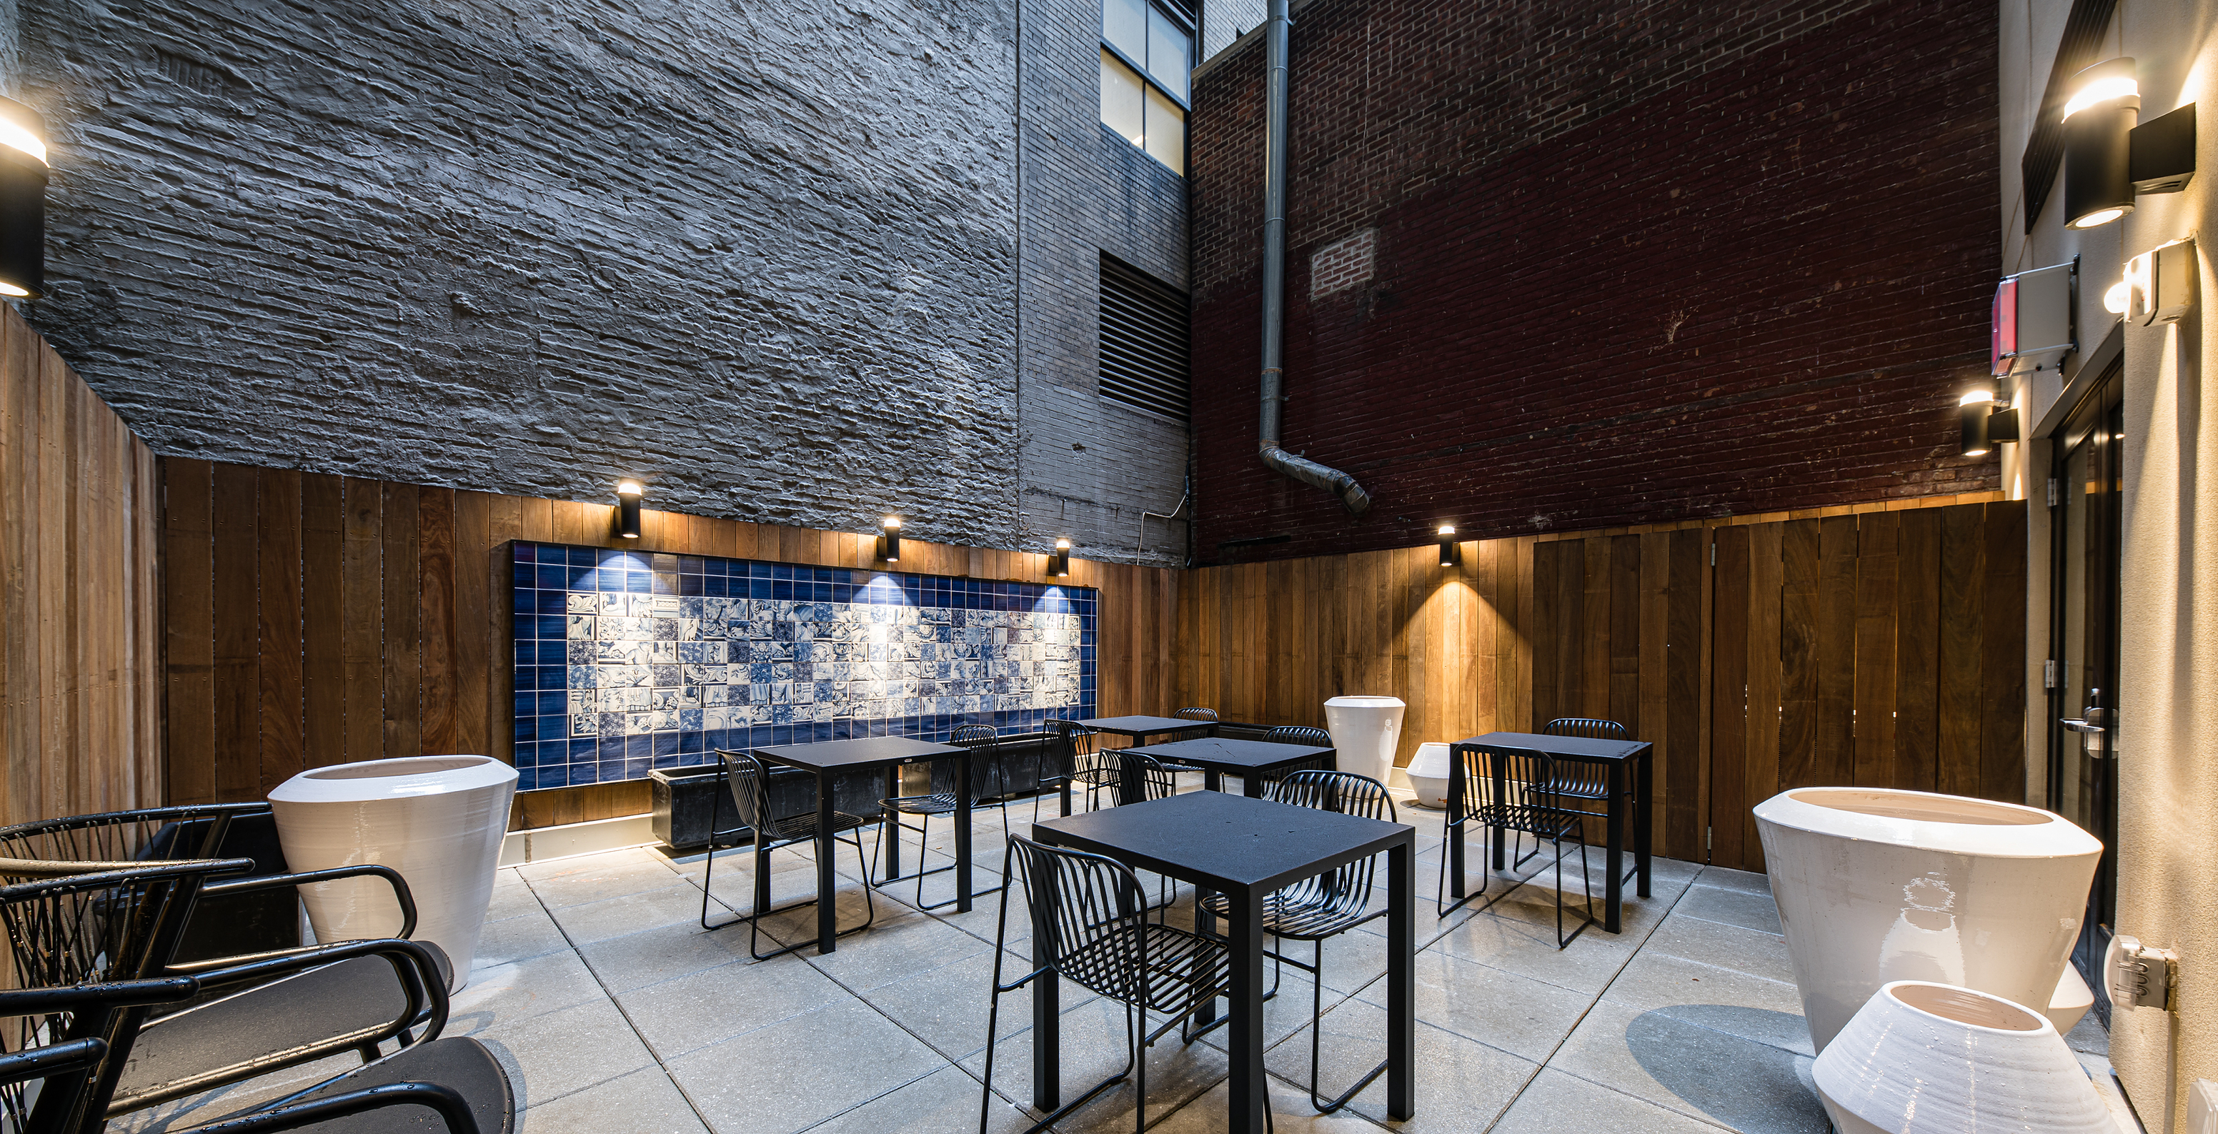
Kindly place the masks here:
POLYGON ((2072 75, 2065 102, 2065 226, 2094 229, 2145 193, 2178 193, 2196 175, 2196 104, 2140 122, 2131 58, 2072 75))

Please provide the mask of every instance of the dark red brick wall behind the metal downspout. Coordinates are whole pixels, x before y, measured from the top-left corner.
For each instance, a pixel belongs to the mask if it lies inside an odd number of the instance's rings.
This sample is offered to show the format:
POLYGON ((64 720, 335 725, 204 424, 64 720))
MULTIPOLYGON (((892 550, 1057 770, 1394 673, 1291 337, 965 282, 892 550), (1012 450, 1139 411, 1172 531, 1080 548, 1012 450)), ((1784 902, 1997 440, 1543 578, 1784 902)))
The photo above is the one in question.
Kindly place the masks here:
POLYGON ((1202 561, 1996 486, 1952 413, 2001 273, 1992 4, 1295 18, 1284 444, 1375 504, 1255 459, 1255 38, 1191 124, 1202 561))

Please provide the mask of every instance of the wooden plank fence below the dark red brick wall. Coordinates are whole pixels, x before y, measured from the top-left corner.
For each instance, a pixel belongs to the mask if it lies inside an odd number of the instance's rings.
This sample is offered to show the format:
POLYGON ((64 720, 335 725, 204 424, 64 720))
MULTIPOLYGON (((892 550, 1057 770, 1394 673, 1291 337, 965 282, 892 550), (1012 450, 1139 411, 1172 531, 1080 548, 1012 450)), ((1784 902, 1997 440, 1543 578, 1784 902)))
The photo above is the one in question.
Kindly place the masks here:
POLYGON ((1659 848, 1761 870, 1750 808, 1870 783, 2021 799, 2025 506, 1750 517, 1189 573, 1178 701, 1422 741, 1608 717, 1657 743, 1659 848))

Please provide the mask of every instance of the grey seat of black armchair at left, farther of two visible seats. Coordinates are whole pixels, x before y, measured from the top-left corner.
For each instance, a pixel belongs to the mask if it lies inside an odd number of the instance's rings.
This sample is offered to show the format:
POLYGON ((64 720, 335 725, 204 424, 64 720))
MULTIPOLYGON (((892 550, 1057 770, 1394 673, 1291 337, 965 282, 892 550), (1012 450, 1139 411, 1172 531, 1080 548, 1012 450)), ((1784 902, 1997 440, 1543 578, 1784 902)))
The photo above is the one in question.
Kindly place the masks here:
MULTIPOLYGON (((437 945, 419 945, 446 961, 437 945)), ((390 1025, 406 1005, 390 961, 355 956, 155 1019, 131 1043, 109 1112, 211 1072, 271 1072, 317 1059, 304 1052, 390 1025)))

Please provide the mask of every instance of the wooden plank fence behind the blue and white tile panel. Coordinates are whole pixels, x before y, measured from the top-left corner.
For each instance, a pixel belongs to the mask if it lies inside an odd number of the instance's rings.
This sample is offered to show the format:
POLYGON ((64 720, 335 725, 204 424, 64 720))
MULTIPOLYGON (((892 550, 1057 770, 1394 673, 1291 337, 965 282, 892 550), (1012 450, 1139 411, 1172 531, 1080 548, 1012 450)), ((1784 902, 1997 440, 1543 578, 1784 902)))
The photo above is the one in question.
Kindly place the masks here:
MULTIPOLYGON (((512 759, 515 539, 614 546, 610 504, 162 459, 169 801, 262 799, 326 763, 512 759)), ((874 535, 645 510, 628 550, 874 566, 874 535)), ((1040 553, 903 539, 901 568, 1045 579, 1040 553)), ((1102 590, 1105 712, 1171 697, 1178 573, 1071 559, 1102 590)), ((648 786, 526 792, 512 826, 648 810, 648 786)))

